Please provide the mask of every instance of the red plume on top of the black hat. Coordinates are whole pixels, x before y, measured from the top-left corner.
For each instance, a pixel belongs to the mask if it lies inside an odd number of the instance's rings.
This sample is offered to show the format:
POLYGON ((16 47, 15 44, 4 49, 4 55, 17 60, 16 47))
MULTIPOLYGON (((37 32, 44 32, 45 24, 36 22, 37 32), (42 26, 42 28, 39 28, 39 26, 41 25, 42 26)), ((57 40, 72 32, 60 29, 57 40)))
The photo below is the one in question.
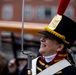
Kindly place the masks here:
POLYGON ((60 0, 57 14, 63 15, 69 2, 70 2, 70 0, 60 0))

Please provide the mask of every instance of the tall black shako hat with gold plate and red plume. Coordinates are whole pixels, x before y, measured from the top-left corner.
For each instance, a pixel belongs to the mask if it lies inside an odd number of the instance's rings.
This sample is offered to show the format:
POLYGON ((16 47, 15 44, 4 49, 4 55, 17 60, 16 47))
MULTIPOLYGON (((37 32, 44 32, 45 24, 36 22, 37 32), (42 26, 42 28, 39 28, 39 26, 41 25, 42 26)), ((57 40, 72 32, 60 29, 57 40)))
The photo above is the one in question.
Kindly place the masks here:
POLYGON ((57 15, 44 28, 44 31, 39 32, 43 35, 61 40, 67 48, 70 48, 76 39, 76 22, 63 15, 69 1, 61 0, 57 15), (63 6, 64 8, 62 9, 63 6))

